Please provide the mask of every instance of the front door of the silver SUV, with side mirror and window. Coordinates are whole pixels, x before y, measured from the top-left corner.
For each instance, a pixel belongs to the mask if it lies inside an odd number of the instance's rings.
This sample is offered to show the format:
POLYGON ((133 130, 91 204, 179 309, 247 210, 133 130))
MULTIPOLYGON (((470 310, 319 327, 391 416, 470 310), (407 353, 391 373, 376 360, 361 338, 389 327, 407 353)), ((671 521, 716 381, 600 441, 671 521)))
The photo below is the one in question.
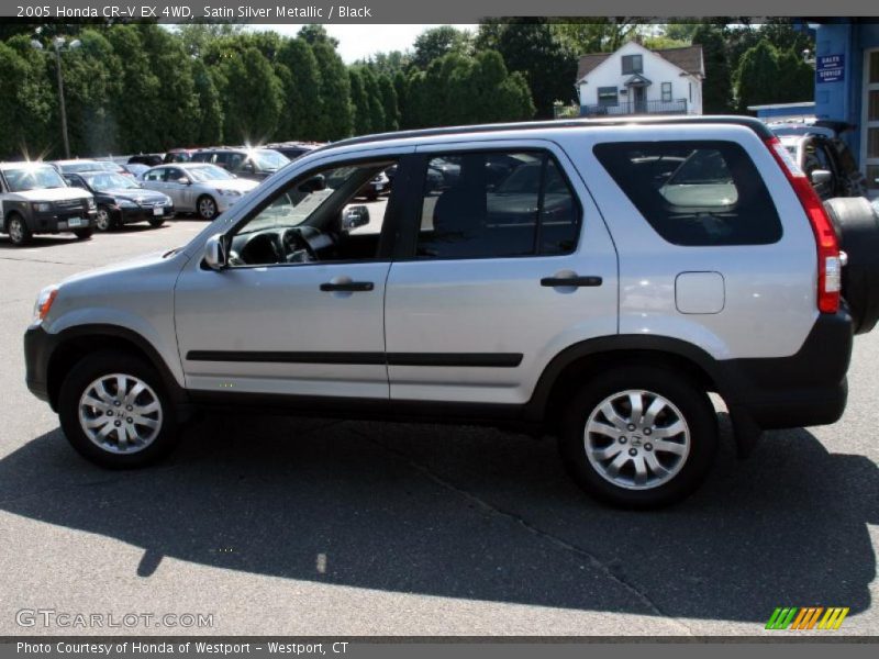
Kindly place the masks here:
POLYGON ((177 283, 175 319, 196 395, 388 400, 383 300, 393 239, 388 219, 398 202, 391 196, 368 204, 366 214, 356 204, 358 217, 370 217, 356 231, 344 228, 343 213, 357 177, 375 176, 400 153, 370 150, 353 164, 335 156, 291 172, 268 198, 242 202, 255 205, 225 234, 233 265, 213 271, 200 258, 190 261, 177 283), (345 169, 349 177, 337 188, 326 185, 331 171, 345 169))

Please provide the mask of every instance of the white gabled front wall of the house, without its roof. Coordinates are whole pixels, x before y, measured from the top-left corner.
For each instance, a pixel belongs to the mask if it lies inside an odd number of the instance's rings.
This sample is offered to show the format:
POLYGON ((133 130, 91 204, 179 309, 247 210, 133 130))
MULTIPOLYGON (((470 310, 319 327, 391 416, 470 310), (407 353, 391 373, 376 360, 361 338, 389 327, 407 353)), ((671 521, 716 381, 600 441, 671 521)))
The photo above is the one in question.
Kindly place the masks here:
MULTIPOLYGON (((688 75, 681 75, 681 69, 653 54, 647 48, 630 42, 616 53, 608 57, 592 69, 579 86, 580 105, 598 105, 598 89, 600 87, 616 87, 617 92, 625 90, 625 81, 631 75, 623 75, 623 55, 643 55, 644 70, 641 74, 652 85, 645 89, 645 99, 649 101, 663 100, 663 82, 671 82, 671 100, 687 100, 688 114, 702 114, 702 82, 688 75)), ((617 94, 619 102, 633 101, 632 92, 617 94)))

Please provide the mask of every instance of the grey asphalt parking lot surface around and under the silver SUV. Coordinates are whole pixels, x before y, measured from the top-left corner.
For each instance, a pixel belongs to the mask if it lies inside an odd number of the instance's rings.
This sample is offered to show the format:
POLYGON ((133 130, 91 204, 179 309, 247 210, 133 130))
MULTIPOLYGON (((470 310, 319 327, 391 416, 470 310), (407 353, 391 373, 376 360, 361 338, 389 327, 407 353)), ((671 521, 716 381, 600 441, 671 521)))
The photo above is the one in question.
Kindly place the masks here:
POLYGON ((708 483, 658 513, 602 507, 550 439, 486 428, 210 418, 158 467, 92 467, 24 386, 33 301, 203 226, 0 238, 0 634, 753 635, 780 634, 763 627, 782 605, 879 632, 879 331, 856 339, 839 423, 767 434, 746 461, 724 423, 708 483), (23 627, 21 610, 213 626, 23 627))

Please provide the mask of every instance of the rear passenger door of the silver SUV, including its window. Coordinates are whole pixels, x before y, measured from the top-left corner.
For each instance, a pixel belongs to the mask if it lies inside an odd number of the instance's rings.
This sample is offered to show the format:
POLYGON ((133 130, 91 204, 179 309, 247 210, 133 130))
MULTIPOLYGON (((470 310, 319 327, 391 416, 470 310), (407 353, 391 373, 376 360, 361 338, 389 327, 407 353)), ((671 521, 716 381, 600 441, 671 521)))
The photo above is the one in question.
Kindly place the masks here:
POLYGON ((553 143, 419 155, 386 291, 391 400, 523 404, 561 349, 616 332, 613 244, 553 143))

